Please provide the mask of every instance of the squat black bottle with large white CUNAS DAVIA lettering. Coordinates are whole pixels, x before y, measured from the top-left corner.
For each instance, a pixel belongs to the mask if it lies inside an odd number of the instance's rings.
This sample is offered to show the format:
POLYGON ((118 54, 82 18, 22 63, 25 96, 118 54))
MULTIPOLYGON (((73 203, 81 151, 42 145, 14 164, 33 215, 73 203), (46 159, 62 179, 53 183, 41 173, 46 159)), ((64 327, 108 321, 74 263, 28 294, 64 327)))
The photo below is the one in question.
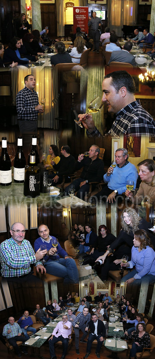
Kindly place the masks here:
POLYGON ((30 165, 25 167, 24 196, 35 198, 40 195, 40 169, 36 164, 35 152, 30 152, 30 165))

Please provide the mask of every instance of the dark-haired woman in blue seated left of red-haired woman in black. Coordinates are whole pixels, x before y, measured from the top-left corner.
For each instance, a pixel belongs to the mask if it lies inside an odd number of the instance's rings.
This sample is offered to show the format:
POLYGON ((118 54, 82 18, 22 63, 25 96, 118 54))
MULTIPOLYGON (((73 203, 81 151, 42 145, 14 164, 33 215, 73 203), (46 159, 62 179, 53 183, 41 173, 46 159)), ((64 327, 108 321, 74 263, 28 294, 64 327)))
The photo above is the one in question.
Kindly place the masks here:
POLYGON ((97 239, 97 234, 94 232, 94 229, 91 224, 85 224, 84 229, 86 232, 86 236, 85 240, 81 242, 79 246, 79 254, 90 251, 90 246, 94 246, 94 243, 97 239))

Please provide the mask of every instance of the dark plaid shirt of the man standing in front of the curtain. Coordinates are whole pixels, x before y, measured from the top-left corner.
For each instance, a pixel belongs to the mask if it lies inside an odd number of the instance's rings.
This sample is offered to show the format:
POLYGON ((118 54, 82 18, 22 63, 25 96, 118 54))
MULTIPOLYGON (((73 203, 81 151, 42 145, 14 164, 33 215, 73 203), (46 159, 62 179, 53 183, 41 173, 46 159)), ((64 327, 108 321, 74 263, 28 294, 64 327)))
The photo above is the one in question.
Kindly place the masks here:
POLYGON ((24 87, 16 96, 18 120, 38 120, 38 111, 35 107, 39 104, 38 94, 24 87))

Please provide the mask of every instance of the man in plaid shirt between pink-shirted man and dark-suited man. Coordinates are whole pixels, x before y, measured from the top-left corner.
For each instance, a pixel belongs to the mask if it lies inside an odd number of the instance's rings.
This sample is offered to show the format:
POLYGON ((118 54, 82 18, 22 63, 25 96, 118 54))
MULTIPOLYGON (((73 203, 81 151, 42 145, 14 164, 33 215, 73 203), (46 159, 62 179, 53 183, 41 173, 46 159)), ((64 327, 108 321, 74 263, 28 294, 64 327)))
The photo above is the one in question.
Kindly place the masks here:
POLYGON ((82 313, 79 313, 77 317, 74 319, 72 326, 74 327, 75 332, 75 348, 76 354, 80 354, 79 352, 79 330, 83 332, 83 336, 80 339, 81 343, 86 343, 84 340, 88 333, 85 332, 85 327, 88 326, 91 315, 89 313, 88 308, 84 308, 82 313))

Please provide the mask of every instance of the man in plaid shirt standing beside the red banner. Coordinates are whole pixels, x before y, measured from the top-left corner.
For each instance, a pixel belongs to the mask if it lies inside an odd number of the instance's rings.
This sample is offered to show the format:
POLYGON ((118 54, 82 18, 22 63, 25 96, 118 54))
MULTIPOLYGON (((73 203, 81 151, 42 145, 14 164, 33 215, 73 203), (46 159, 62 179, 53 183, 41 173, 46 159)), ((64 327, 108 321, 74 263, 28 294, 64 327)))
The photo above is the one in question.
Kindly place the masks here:
POLYGON ((100 39, 100 32, 98 27, 103 23, 100 18, 97 17, 96 11, 93 11, 93 17, 89 16, 88 26, 91 25, 91 35, 94 41, 94 50, 93 52, 99 53, 99 39, 100 39))

